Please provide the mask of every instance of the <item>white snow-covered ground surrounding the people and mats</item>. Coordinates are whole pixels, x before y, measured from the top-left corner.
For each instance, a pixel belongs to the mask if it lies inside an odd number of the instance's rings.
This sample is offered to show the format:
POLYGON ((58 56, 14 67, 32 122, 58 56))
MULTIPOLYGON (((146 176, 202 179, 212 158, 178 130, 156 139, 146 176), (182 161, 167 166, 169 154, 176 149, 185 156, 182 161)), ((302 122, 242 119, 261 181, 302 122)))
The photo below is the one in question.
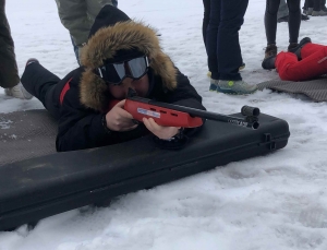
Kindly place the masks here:
MULTIPOLYGON (((289 144, 264 157, 120 197, 106 209, 83 207, 45 218, 31 231, 22 226, 0 233, 0 250, 326 250, 326 103, 268 90, 249 96, 209 92, 202 1, 119 0, 119 8, 158 28, 165 51, 208 110, 228 115, 255 105, 289 122, 289 144)), ((261 68, 264 10, 265 0, 251 0, 240 32, 242 75, 250 83, 277 76, 261 68)), ((21 74, 32 57, 59 76, 77 66, 53 0, 9 0, 7 13, 21 74)), ((303 22, 300 38, 326 45, 326 23, 327 16, 303 22)), ((280 50, 288 46, 286 23, 278 24, 277 44, 280 50)), ((34 108, 43 108, 35 98, 12 99, 0 90, 0 112, 34 108)))

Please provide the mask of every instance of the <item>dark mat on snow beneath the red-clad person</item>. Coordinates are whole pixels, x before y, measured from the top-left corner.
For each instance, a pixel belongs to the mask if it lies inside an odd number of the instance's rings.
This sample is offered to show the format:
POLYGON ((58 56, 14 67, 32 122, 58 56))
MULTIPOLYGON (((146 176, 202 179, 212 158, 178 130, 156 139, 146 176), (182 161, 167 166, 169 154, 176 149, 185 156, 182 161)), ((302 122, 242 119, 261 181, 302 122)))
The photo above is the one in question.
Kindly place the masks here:
POLYGON ((281 80, 270 80, 259 83, 258 90, 270 88, 278 92, 286 92, 290 94, 303 94, 314 102, 327 102, 327 78, 292 82, 281 80))

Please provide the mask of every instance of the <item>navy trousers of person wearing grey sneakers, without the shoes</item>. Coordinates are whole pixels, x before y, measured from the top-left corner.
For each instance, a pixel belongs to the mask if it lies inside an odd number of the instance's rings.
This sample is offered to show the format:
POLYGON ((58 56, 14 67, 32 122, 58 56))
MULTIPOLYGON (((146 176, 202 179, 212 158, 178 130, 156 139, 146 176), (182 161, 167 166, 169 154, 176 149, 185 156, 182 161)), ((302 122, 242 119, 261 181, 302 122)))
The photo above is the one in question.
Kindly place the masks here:
POLYGON ((242 80, 243 63, 239 31, 244 22, 249 0, 204 0, 205 17, 209 22, 205 39, 208 67, 215 80, 242 80))

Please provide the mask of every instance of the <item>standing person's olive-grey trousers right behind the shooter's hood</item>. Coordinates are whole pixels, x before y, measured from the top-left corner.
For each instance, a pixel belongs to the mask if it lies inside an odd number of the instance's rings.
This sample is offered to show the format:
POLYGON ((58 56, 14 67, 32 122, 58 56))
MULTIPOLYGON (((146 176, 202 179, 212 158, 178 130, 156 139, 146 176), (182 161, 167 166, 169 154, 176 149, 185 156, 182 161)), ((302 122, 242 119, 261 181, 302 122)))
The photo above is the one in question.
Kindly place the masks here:
POLYGON ((62 25, 70 32, 74 52, 80 64, 80 55, 87 41, 95 17, 104 5, 118 4, 117 0, 56 0, 62 25))

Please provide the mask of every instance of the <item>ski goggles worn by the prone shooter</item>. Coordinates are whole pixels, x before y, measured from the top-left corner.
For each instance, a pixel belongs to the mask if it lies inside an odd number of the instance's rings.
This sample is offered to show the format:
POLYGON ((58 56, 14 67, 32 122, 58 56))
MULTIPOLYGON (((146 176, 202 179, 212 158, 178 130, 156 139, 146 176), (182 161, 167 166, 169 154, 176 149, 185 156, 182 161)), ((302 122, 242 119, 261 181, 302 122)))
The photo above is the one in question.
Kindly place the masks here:
POLYGON ((98 68, 98 72, 107 83, 119 85, 126 78, 133 80, 143 78, 147 73, 148 66, 148 58, 143 56, 122 62, 106 63, 98 68))

